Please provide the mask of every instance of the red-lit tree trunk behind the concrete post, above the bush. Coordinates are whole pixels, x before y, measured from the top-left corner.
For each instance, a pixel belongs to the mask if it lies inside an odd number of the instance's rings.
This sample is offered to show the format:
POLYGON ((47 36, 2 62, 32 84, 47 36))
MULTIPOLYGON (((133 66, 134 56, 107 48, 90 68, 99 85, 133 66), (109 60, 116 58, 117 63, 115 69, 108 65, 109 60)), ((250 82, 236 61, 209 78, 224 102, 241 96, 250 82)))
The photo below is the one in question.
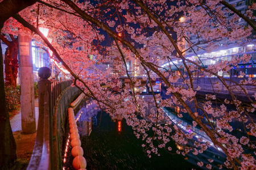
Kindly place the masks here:
POLYGON ((4 36, 1 40, 8 46, 5 52, 5 86, 16 87, 18 74, 18 39, 10 35, 12 41, 8 41, 4 36))

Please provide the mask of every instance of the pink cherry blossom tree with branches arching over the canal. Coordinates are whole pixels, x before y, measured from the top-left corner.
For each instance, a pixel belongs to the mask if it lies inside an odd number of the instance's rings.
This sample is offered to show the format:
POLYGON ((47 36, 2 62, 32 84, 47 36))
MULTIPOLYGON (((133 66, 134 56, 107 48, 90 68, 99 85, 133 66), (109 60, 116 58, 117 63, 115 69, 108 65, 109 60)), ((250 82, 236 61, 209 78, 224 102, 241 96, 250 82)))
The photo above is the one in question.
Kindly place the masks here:
MULTIPOLYGON (((197 48, 211 52, 226 41, 243 41, 250 43, 251 32, 255 31, 256 4, 253 3, 245 14, 237 11, 226 1, 85 1, 82 3, 63 1, 38 1, 19 14, 13 14, 8 20, 11 27, 20 27, 19 23, 35 32, 34 39, 42 41, 52 50, 55 57, 65 66, 74 79, 74 85, 111 115, 121 116, 132 126, 137 138, 144 141, 143 150, 151 157, 160 155, 160 148, 183 156, 192 154, 198 159, 197 165, 208 169, 226 167, 233 169, 255 168, 256 125, 251 115, 255 113, 256 94, 250 95, 245 86, 256 86, 255 79, 243 79, 235 82, 218 74, 222 70, 230 74, 233 66, 246 63, 251 56, 234 56, 230 61, 216 61, 205 66, 200 59, 197 48), (229 16, 229 14, 233 14, 229 16), (183 16, 181 21, 180 17, 183 16), (248 25, 237 24, 241 18, 248 25), (17 22, 18 21, 18 22, 17 22), (50 28, 52 44, 37 29, 50 28), (104 32, 104 33, 103 33, 104 32), (122 36, 118 36, 121 33, 122 36), (175 33, 174 39, 171 33, 175 33), (39 36, 38 36, 39 35, 39 36), (198 41, 189 38, 195 35, 198 41), (152 37, 146 39, 146 37, 152 37), (144 45, 144 46, 143 46, 144 45), (161 46, 162 52, 148 56, 148 46, 161 46), (119 52, 116 65, 119 74, 97 69, 98 63, 110 62, 110 51, 119 52), (143 46, 143 47, 142 47, 143 46), (83 50, 79 50, 82 47, 83 50), (192 50, 197 59, 186 58, 185 52, 192 50), (133 55, 127 55, 132 53, 133 55), (97 56, 97 63, 88 58, 88 54, 97 56), (137 61, 134 67, 146 75, 153 102, 148 103, 135 88, 141 86, 141 80, 132 76, 127 68, 131 59, 137 61), (179 61, 177 63, 176 61, 179 61), (168 67, 163 67, 168 63, 168 67), (175 67, 175 69, 174 69, 175 67), (201 72, 212 82, 210 92, 204 100, 197 97, 200 86, 195 87, 194 73, 201 72), (130 84, 114 83, 119 75, 127 75, 130 84), (155 76, 162 79, 168 99, 154 94, 152 81, 155 76), (101 86, 106 84, 107 86, 101 86), (125 86, 123 86, 125 85, 125 86), (113 93, 108 87, 120 87, 121 92, 113 93), (219 87, 228 91, 230 99, 218 99, 219 87), (241 91, 249 103, 243 103, 236 95, 241 91), (131 91, 131 94, 130 94, 131 91), (228 111, 227 107, 234 109, 228 111), (165 108, 176 105, 181 108, 178 117, 188 116, 191 125, 181 128, 181 122, 175 122, 164 112, 165 108), (153 106, 153 107, 152 107, 153 106), (147 113, 147 109, 150 113, 147 113), (241 124, 245 134, 236 136, 233 122, 241 124), (199 128, 209 141, 196 137, 193 130, 199 128), (173 140, 182 150, 175 151, 168 143, 173 140), (214 164, 202 162, 198 154, 215 147, 224 155, 225 161, 214 164)), ((4 25, 4 33, 17 34, 18 29, 4 25), (16 32, 15 32, 16 31, 16 32)), ((243 74, 243 73, 241 73, 243 74)))

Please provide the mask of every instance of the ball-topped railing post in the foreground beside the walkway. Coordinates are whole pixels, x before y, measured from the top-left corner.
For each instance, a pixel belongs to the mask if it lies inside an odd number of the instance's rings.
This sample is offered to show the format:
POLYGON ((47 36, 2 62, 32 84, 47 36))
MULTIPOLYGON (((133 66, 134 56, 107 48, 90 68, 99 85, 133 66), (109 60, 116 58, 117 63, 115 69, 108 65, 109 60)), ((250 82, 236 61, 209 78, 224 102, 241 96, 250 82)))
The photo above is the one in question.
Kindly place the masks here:
POLYGON ((48 80, 51 70, 41 67, 38 71, 39 121, 34 150, 27 169, 53 169, 52 149, 52 97, 51 84, 48 80))

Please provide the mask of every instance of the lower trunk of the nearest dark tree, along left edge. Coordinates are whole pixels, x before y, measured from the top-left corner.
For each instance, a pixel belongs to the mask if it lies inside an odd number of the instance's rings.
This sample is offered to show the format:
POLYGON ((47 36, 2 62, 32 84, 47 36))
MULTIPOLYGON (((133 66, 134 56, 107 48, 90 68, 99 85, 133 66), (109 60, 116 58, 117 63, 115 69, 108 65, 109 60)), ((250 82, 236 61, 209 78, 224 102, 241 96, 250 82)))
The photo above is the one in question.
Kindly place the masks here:
MULTIPOLYGON (((1 25, 0 25, 1 26, 1 25)), ((1 34, 0 27, 0 34, 1 34)), ((16 159, 16 143, 11 130, 9 113, 6 108, 5 82, 3 79, 3 54, 0 45, 0 167, 14 162, 16 159)))

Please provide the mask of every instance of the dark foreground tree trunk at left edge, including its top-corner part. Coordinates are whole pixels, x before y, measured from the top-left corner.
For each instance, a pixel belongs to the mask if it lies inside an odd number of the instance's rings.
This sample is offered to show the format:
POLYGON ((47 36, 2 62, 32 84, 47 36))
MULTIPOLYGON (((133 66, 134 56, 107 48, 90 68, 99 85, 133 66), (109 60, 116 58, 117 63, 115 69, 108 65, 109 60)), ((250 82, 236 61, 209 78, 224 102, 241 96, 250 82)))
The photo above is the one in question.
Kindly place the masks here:
MULTIPOLYGON (((4 0, 0 3, 0 35, 3 24, 11 15, 33 5, 36 0, 4 0)), ((16 144, 9 121, 9 113, 5 100, 5 81, 3 79, 3 54, 0 46, 0 167, 14 162, 16 159, 16 144)))

